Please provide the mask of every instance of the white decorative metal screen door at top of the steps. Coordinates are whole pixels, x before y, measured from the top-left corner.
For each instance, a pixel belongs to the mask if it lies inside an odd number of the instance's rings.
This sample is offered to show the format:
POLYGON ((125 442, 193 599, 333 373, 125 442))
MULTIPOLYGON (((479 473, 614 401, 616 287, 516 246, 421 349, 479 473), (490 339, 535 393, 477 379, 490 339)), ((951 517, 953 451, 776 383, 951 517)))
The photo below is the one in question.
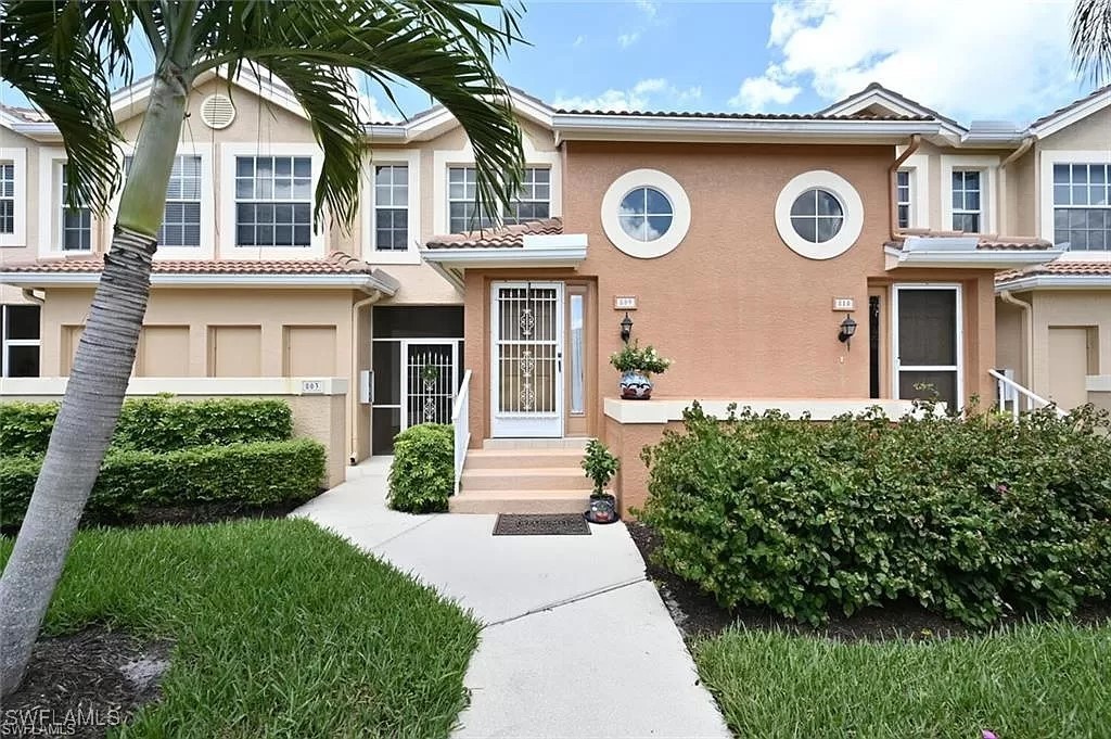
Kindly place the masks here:
POLYGON ((490 432, 563 436, 563 283, 496 282, 490 432))

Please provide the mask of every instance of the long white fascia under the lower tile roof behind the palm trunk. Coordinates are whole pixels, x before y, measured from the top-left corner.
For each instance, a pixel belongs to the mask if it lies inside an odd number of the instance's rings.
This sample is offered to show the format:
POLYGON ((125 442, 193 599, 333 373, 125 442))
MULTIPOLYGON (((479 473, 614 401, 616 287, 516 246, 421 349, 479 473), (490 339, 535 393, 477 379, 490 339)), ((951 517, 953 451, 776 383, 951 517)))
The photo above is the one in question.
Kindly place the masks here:
MULTIPOLYGON (((352 274, 151 274, 152 286, 164 287, 254 287, 254 288, 348 288, 392 296, 398 282, 374 273, 352 274)), ((0 272, 0 283, 16 287, 79 287, 100 282, 100 272, 0 272)))

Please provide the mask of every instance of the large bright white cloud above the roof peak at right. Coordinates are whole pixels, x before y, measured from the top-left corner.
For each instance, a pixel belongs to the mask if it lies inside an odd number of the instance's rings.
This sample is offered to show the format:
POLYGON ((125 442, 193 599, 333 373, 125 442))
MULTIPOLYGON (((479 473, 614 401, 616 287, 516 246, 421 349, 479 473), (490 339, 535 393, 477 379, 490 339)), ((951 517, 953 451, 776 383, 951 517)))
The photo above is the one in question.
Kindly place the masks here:
POLYGON ((837 100, 875 81, 959 119, 1017 117, 1083 92, 1070 11, 1068 0, 775 0, 778 61, 731 103, 787 104, 807 83, 837 100))

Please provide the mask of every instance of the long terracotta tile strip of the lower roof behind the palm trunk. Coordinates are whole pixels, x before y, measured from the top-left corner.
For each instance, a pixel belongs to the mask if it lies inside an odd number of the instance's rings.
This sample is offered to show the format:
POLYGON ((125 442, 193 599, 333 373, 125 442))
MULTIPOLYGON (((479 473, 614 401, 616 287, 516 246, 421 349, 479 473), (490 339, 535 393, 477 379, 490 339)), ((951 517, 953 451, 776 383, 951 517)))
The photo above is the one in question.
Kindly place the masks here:
MULTIPOLYGON (((104 268, 102 254, 0 264, 0 272, 88 273, 104 268)), ((374 268, 342 251, 326 259, 154 259, 153 274, 346 274, 374 268)))

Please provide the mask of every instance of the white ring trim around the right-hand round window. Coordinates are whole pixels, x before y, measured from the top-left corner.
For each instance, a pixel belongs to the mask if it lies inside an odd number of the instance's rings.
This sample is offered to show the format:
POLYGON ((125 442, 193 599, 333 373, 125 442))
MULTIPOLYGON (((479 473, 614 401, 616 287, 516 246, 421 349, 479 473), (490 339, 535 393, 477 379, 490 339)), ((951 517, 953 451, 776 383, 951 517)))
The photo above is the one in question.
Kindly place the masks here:
POLYGON ((775 228, 791 251, 807 259, 833 259, 840 257, 860 238, 864 228, 864 204, 860 193, 840 174, 824 169, 803 172, 788 182, 775 200, 775 228), (803 239, 791 223, 791 206, 807 190, 827 190, 841 201, 844 220, 841 230, 829 241, 814 243, 803 239))

